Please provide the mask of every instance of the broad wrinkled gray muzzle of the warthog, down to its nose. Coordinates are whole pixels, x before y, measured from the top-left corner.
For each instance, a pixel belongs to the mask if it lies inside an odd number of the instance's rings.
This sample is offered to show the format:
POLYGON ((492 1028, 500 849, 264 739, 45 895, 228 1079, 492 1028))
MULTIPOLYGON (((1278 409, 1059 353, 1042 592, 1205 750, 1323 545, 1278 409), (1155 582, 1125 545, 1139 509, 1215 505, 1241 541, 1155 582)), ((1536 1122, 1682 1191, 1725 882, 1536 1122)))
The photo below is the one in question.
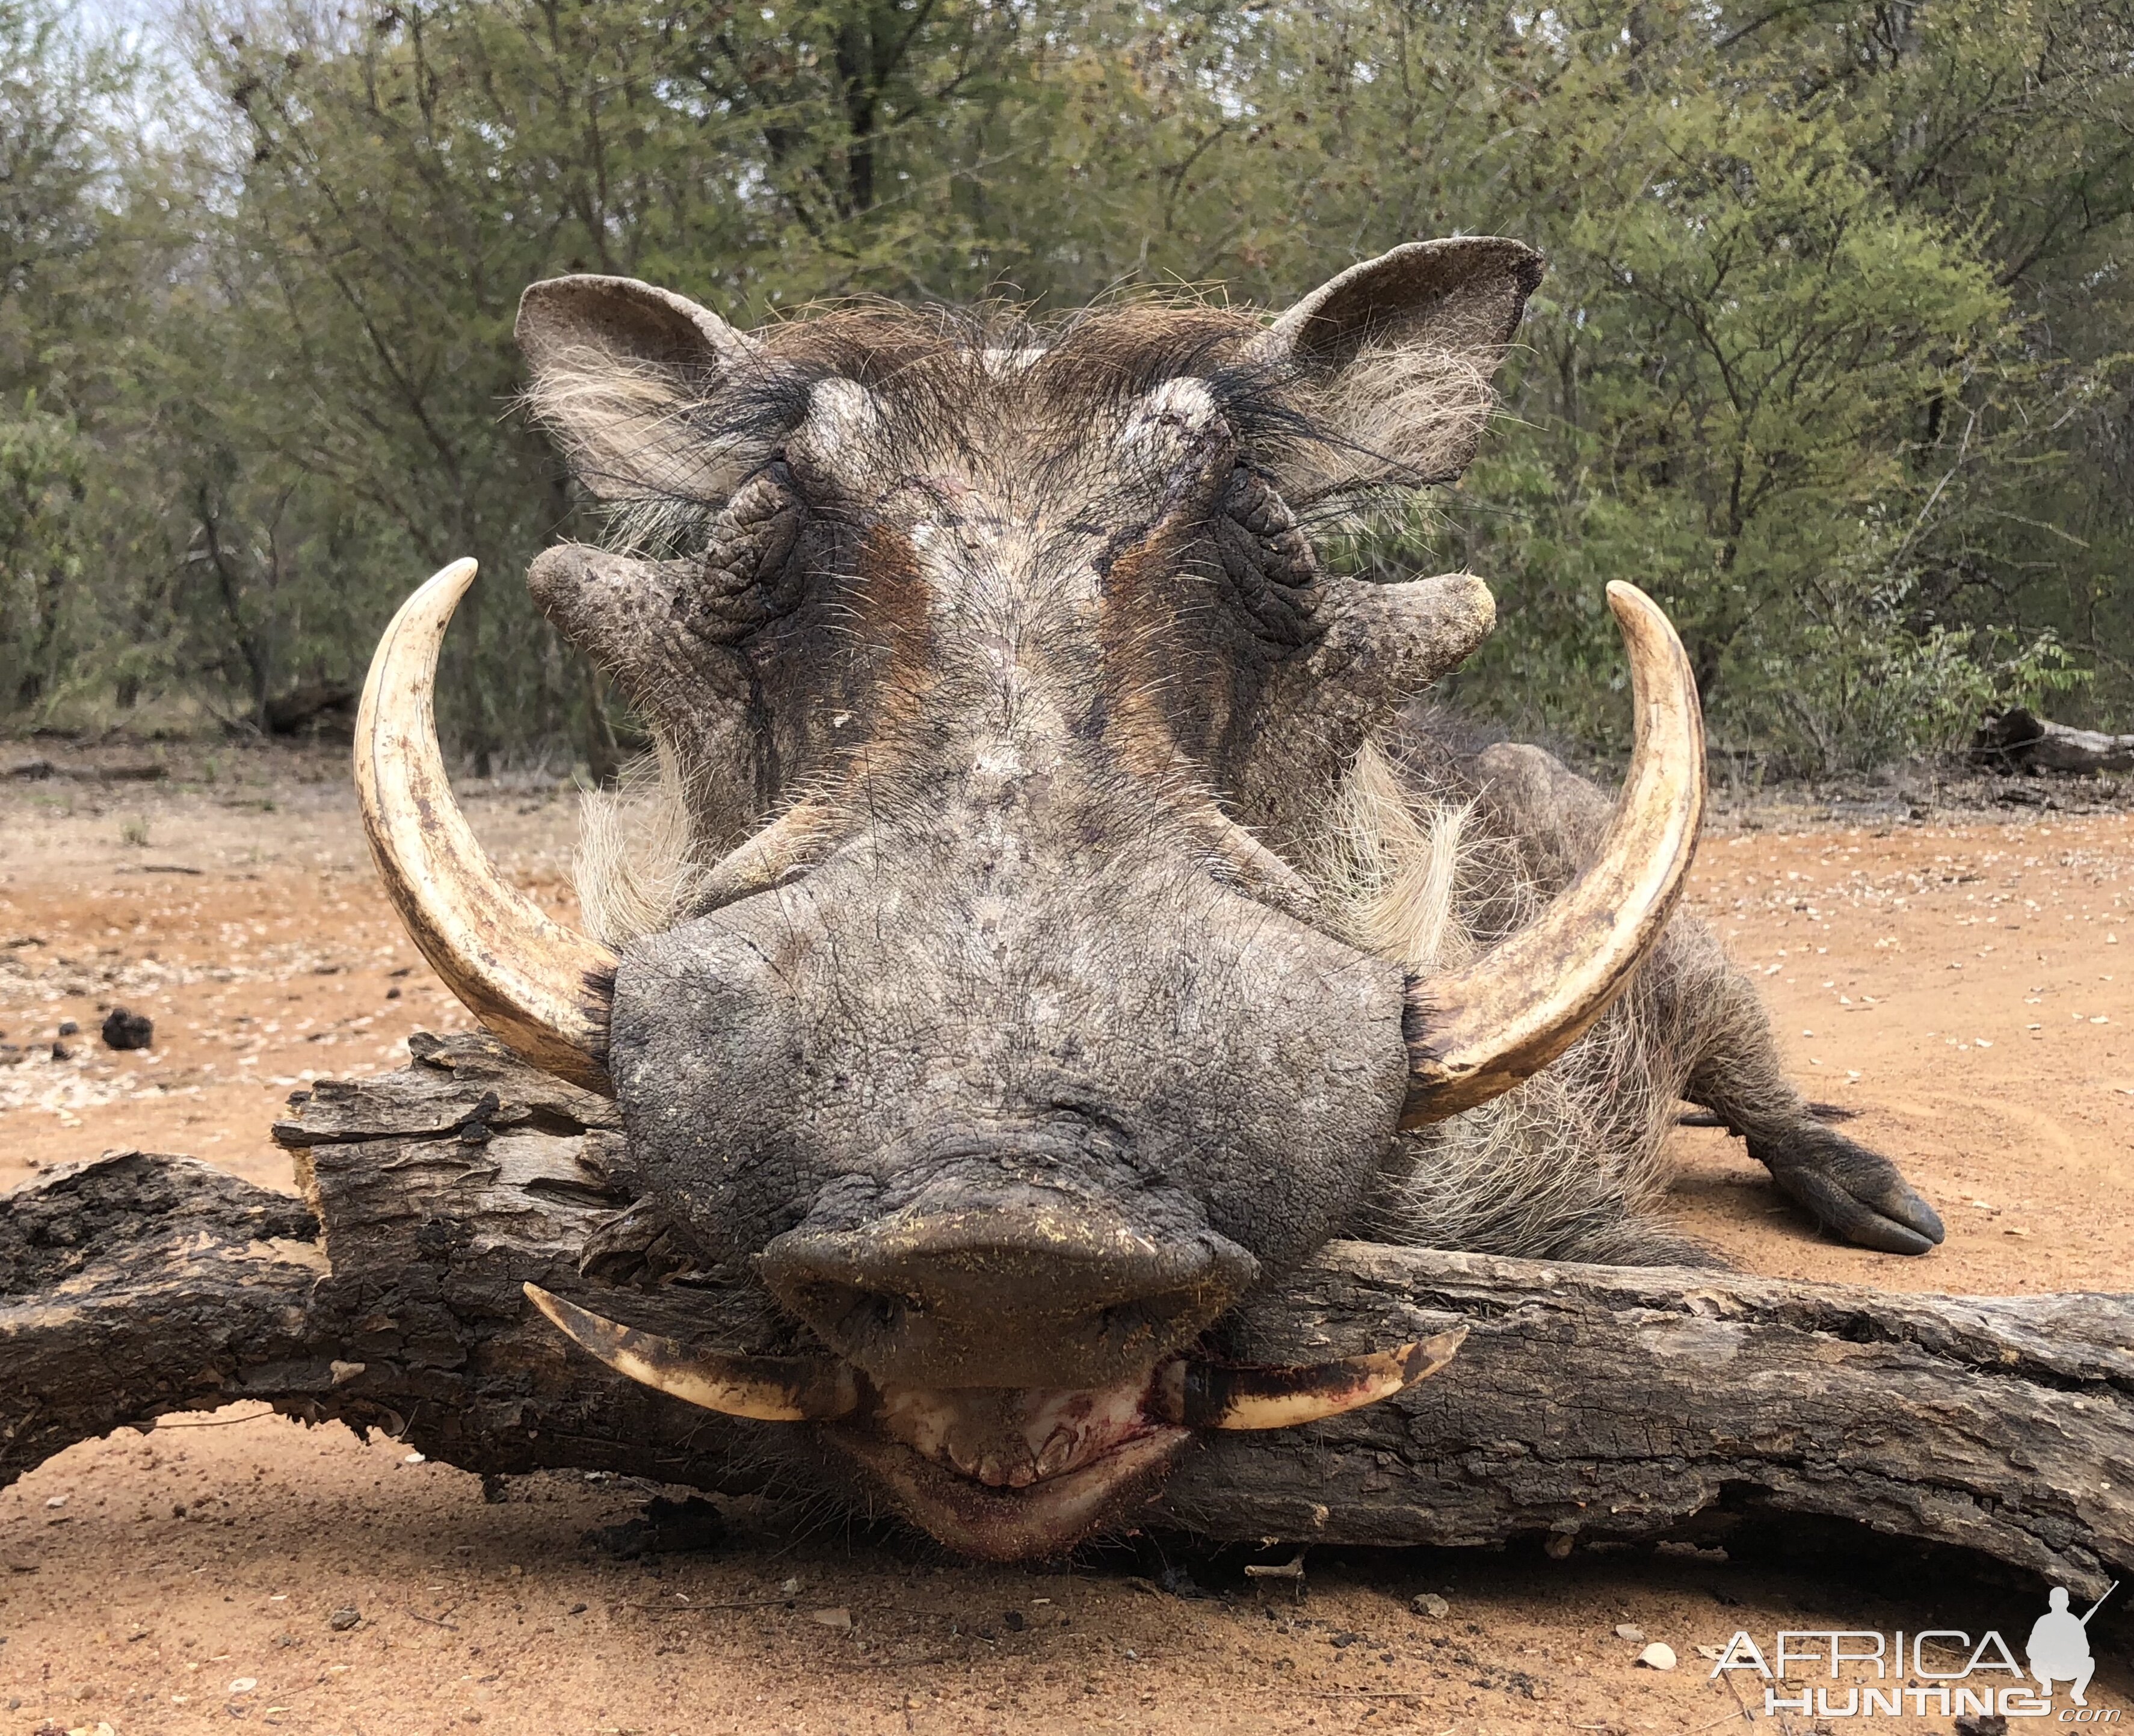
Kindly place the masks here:
POLYGON ((617 981, 647 1175, 875 1376, 1148 1367, 1336 1233, 1400 1111, 1400 973, 1180 874, 1076 759, 969 774, 617 981))

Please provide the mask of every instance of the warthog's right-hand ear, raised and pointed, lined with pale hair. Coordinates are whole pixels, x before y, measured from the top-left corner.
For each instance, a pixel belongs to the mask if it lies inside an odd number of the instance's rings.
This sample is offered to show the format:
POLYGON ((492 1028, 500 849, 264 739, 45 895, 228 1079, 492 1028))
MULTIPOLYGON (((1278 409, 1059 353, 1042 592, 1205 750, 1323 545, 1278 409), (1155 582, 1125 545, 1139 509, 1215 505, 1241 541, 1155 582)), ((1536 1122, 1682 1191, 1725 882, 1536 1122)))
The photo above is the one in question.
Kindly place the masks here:
POLYGON ((1490 382, 1541 282, 1524 241, 1411 241, 1349 267, 1283 314, 1255 360, 1293 369, 1325 435, 1283 469, 1291 501, 1451 482, 1490 414, 1490 382))

